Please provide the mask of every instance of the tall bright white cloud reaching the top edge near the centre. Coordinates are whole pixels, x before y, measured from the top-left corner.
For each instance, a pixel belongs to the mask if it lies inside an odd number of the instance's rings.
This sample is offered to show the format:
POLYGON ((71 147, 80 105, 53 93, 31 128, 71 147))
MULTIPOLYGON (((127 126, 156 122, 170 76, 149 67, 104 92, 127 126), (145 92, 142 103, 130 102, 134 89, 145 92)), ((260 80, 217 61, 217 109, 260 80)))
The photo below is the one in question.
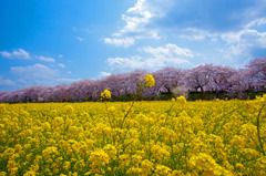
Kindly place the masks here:
POLYGON ((133 45, 135 40, 161 39, 158 28, 153 25, 154 20, 163 18, 171 4, 172 0, 154 0, 152 2, 137 0, 133 8, 122 14, 125 25, 112 34, 114 38, 105 38, 104 42, 127 48, 133 45))

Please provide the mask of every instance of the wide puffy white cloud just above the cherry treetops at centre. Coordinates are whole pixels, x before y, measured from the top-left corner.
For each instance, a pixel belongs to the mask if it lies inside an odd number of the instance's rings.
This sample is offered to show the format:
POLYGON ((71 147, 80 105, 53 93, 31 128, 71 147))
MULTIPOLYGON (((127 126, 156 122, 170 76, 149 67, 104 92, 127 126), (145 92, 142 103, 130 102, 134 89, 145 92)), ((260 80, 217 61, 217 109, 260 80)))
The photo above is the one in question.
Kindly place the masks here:
POLYGON ((158 48, 146 46, 139 51, 149 56, 110 58, 108 63, 111 68, 119 69, 156 70, 163 66, 190 64, 188 59, 194 58, 191 50, 171 43, 158 48))

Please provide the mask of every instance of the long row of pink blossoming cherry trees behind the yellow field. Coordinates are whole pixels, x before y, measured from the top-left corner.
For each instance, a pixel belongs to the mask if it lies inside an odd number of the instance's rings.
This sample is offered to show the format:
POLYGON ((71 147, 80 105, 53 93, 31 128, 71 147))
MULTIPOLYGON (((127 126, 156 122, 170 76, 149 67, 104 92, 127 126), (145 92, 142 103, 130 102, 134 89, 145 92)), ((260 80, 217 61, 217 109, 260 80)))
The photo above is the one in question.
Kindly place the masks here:
MULTIPOLYGON (((112 74, 101 80, 83 80, 70 85, 53 87, 31 86, 14 92, 0 92, 0 102, 62 102, 93 101, 108 89, 112 96, 135 94, 136 82, 149 72, 136 70, 130 73, 112 74)), ((155 86, 146 89, 143 96, 155 97, 162 92, 176 93, 176 90, 204 92, 225 92, 234 96, 243 92, 263 91, 266 86, 266 58, 250 61, 245 69, 204 64, 191 70, 164 68, 151 73, 155 86)), ((177 93, 178 94, 178 91, 177 93)))

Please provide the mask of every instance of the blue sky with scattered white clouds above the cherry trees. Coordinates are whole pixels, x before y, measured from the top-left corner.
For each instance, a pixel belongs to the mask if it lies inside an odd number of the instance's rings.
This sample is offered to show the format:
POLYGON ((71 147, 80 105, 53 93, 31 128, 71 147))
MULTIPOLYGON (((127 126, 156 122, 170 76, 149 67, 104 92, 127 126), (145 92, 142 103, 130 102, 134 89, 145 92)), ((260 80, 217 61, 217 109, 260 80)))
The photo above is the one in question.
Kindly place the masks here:
POLYGON ((266 56, 265 0, 0 0, 0 91, 266 56))

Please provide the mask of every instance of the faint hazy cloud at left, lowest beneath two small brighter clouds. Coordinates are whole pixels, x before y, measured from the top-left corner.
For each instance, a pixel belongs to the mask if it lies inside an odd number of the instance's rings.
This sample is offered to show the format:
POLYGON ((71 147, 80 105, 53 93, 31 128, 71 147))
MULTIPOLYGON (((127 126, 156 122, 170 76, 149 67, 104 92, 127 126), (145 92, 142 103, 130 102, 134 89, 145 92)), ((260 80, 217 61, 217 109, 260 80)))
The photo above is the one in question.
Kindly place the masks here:
POLYGON ((59 75, 57 70, 37 63, 29 66, 12 66, 11 71, 19 76, 31 80, 31 79, 53 79, 59 75))

